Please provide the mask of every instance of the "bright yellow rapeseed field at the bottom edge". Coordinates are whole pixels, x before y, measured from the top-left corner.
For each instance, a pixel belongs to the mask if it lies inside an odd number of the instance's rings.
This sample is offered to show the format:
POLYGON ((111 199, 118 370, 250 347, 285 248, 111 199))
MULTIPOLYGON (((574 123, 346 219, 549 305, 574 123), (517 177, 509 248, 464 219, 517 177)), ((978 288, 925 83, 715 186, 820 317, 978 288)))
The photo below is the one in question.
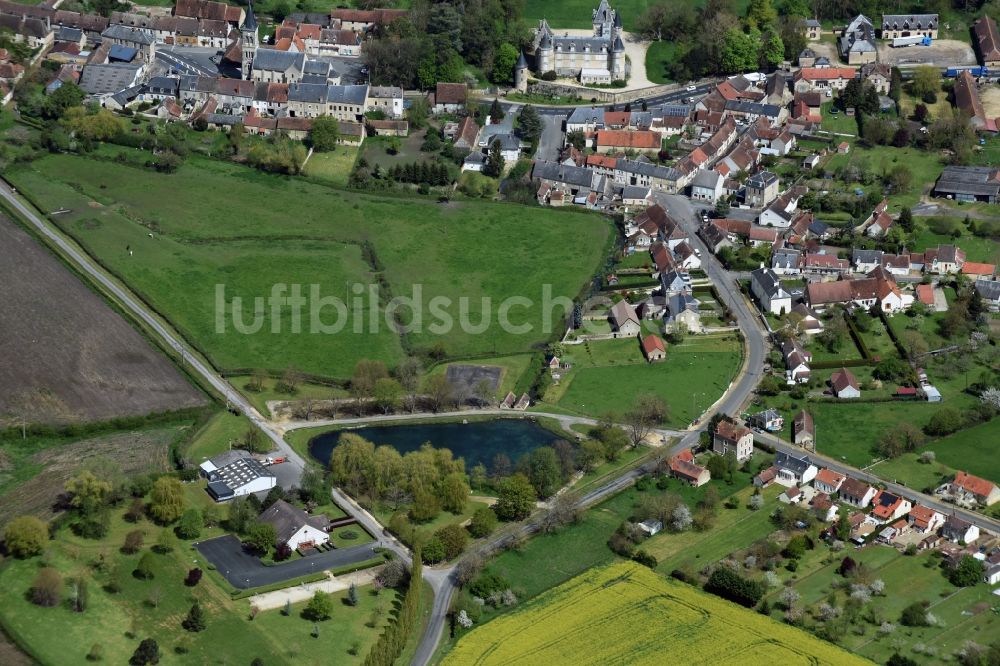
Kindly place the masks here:
POLYGON ((591 569, 461 638, 444 666, 871 664, 635 563, 591 569))

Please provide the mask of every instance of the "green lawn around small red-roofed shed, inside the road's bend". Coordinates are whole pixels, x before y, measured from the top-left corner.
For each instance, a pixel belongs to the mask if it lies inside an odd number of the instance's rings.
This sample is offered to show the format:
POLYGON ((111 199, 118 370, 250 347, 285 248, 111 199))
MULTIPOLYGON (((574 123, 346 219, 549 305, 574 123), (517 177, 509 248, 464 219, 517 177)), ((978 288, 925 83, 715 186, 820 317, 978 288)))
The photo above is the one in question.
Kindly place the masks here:
POLYGON ((652 393, 670 408, 668 424, 685 426, 725 392, 742 363, 741 349, 732 335, 690 335, 679 345, 667 345, 665 361, 649 364, 632 339, 567 346, 573 368, 555 391, 546 393, 545 402, 599 417, 622 414, 635 396, 652 393))

